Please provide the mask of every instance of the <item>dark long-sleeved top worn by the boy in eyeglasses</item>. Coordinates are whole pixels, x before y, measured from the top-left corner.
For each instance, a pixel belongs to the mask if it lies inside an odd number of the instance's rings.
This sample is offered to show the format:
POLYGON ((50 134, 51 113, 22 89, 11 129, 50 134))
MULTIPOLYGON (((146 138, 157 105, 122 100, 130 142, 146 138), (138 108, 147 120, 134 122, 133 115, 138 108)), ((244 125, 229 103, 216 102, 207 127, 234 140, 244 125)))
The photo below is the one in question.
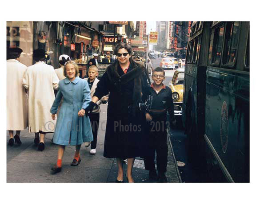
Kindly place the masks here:
POLYGON ((174 120, 172 89, 163 85, 163 88, 156 93, 151 85, 143 92, 142 100, 146 100, 147 96, 153 96, 152 105, 147 112, 152 116, 153 121, 166 121, 167 111, 170 114, 170 120, 174 120))

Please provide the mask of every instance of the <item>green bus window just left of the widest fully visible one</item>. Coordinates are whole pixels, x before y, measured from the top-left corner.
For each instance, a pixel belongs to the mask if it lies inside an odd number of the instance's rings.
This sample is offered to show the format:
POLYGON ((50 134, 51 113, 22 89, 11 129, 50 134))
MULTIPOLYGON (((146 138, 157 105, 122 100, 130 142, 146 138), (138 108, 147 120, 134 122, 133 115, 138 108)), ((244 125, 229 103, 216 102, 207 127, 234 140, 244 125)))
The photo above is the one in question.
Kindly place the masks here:
POLYGON ((224 35, 224 25, 222 25, 221 27, 217 27, 214 31, 212 64, 219 65, 220 63, 223 35, 224 35))

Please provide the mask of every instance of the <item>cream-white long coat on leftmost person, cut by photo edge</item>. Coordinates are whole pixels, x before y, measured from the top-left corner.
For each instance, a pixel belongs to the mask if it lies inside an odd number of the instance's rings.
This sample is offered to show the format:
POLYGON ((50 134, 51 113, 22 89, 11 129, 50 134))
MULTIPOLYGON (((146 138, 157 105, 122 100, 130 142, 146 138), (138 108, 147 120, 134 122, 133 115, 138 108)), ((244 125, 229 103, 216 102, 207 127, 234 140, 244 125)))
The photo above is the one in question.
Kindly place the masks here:
POLYGON ((22 77, 27 66, 16 59, 7 60, 7 130, 28 127, 26 92, 22 77))

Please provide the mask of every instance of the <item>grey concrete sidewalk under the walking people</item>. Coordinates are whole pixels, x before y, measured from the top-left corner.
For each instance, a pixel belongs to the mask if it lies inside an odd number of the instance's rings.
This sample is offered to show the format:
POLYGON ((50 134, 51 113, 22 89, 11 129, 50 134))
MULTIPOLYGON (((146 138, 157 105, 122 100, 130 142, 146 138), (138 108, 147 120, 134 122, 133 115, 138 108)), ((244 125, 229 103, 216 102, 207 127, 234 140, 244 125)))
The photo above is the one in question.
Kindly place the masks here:
MULTIPOLYGON (((51 167, 56 164, 57 146, 51 142, 52 134, 45 136, 45 149, 37 150, 34 145, 34 133, 28 133, 28 129, 21 131, 21 146, 7 145, 7 182, 35 182, 35 183, 91 183, 91 182, 115 182, 117 175, 116 159, 104 158, 104 131, 107 117, 107 104, 100 106, 100 126, 96 154, 89 154, 90 147, 81 146, 81 163, 78 166, 70 166, 75 154, 75 146, 66 146, 62 171, 52 175, 51 167)), ((7 131, 7 143, 8 143, 7 131)), ((176 159, 173 154, 172 144, 168 137, 168 166, 166 177, 168 182, 181 182, 177 170, 176 159)), ((126 169, 126 165, 124 165, 126 169)), ((148 179, 148 171, 144 169, 144 162, 136 158, 133 167, 133 178, 137 183, 157 182, 148 179)), ((125 176, 124 176, 125 177, 125 176)), ((124 181, 126 179, 124 178, 124 181)))

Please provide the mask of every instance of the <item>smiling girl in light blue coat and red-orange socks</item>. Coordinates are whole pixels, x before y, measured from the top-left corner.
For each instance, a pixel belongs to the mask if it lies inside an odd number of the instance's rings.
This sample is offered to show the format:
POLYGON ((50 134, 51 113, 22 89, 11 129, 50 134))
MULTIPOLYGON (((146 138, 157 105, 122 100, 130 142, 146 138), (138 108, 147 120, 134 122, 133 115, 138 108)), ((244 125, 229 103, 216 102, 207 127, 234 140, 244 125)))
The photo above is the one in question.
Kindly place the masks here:
POLYGON ((82 142, 93 140, 90 119, 84 115, 84 109, 88 107, 91 96, 87 81, 82 80, 78 66, 74 62, 67 62, 64 66, 64 76, 59 82, 59 91, 52 104, 52 119, 56 119, 56 112, 60 100, 63 103, 58 115, 53 142, 59 145, 57 164, 52 167, 54 173, 61 171, 61 163, 65 146, 76 145, 76 153, 71 166, 77 166, 80 162, 80 147, 82 142))

